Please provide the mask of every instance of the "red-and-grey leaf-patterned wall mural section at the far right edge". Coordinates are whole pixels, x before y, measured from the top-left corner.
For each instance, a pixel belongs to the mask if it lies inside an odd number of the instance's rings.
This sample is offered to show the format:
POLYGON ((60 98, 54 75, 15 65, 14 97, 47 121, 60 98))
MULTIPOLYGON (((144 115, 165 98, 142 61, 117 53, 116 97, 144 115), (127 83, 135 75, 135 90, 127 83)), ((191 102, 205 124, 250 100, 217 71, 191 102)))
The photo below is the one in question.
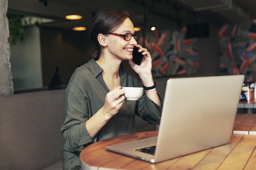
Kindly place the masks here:
POLYGON ((256 20, 245 24, 223 24, 220 39, 222 74, 245 75, 245 81, 256 80, 256 20))

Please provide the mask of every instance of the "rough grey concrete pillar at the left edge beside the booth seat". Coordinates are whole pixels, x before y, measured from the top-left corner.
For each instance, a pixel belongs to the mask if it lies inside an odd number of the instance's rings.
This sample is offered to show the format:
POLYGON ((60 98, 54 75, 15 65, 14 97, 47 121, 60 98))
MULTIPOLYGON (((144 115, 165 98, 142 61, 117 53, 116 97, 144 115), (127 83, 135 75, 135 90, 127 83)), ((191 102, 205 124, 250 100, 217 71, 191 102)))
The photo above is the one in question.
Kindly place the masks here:
POLYGON ((7 8, 8 0, 0 0, 0 96, 13 94, 7 8))

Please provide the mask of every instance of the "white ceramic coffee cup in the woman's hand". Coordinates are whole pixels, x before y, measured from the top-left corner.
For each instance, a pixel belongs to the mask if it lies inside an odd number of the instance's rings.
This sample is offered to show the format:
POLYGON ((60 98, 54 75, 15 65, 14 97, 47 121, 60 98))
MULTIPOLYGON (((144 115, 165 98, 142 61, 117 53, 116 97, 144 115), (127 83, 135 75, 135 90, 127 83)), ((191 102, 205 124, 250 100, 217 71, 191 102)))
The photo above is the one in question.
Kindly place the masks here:
POLYGON ((144 92, 143 87, 122 87, 127 100, 138 100, 144 92))

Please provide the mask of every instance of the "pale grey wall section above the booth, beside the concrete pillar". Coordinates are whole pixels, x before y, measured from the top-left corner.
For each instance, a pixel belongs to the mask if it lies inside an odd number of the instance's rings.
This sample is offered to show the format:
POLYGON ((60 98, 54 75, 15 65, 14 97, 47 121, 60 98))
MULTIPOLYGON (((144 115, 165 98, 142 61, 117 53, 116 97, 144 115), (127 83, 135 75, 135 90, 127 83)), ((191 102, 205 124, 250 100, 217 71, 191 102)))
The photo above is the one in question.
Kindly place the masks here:
POLYGON ((36 26, 25 29, 24 40, 11 46, 10 61, 14 90, 43 87, 40 30, 36 26))

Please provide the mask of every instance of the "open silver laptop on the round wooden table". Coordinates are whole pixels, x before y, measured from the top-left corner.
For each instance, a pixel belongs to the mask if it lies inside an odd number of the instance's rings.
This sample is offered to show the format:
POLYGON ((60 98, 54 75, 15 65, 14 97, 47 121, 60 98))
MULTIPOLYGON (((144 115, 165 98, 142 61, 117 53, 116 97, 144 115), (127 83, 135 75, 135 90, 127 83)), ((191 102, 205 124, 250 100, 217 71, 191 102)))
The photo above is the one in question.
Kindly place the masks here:
POLYGON ((227 144, 243 81, 244 75, 170 78, 158 136, 106 149, 157 163, 227 144), (150 146, 155 146, 154 154, 144 152, 150 146))

